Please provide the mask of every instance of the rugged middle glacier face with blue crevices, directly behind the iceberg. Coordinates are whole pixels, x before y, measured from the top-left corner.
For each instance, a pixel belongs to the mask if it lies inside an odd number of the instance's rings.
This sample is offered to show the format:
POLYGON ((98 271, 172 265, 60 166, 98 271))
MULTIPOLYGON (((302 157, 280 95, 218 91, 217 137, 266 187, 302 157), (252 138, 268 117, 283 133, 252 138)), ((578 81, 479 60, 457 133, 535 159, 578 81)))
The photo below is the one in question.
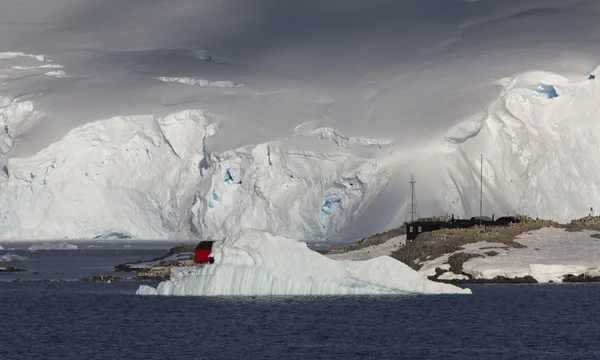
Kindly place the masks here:
POLYGON ((210 180, 196 194, 191 226, 216 238, 254 228, 327 239, 360 216, 388 182, 374 159, 277 143, 214 154, 207 164, 210 180))

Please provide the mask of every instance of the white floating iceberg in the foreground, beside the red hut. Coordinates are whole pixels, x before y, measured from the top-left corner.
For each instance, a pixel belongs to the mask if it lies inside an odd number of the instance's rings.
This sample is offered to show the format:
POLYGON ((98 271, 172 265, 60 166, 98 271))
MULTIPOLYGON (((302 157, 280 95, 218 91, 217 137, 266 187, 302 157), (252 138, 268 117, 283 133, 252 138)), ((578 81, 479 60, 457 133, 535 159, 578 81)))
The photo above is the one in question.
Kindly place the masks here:
POLYGON ((305 243, 243 230, 213 246, 214 264, 174 268, 158 288, 139 295, 339 295, 470 293, 429 281, 400 261, 381 256, 336 261, 305 243))

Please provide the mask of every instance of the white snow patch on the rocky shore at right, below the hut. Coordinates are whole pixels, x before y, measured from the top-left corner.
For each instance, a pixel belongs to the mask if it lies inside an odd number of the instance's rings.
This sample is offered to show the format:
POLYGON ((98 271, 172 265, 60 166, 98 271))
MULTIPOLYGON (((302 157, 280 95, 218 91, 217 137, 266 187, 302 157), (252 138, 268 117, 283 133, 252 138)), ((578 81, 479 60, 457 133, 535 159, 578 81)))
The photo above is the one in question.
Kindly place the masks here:
MULTIPOLYGON (((590 236, 595 233, 597 232, 588 230, 568 232, 564 229, 543 228, 516 239, 526 248, 488 242, 468 244, 460 252, 484 254, 495 251, 498 255, 469 259, 463 264, 463 271, 475 279, 531 276, 540 283, 562 282, 563 277, 568 274, 598 276, 600 240, 590 236)), ((447 261, 449 255, 426 262, 419 273, 423 276, 434 275, 435 268, 443 268, 441 264, 447 261)), ((444 273, 442 276, 444 275, 445 279, 458 279, 454 274, 444 273)))

